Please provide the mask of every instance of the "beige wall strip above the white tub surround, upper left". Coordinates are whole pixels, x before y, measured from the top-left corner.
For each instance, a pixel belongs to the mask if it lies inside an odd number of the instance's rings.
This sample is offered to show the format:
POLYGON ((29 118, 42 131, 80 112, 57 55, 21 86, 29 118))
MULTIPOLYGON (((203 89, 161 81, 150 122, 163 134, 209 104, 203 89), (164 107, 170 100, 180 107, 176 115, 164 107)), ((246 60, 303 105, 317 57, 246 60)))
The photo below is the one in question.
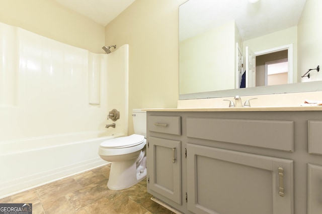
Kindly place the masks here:
POLYGON ((0 22, 93 53, 104 53, 104 26, 52 0, 0 0, 0 22))

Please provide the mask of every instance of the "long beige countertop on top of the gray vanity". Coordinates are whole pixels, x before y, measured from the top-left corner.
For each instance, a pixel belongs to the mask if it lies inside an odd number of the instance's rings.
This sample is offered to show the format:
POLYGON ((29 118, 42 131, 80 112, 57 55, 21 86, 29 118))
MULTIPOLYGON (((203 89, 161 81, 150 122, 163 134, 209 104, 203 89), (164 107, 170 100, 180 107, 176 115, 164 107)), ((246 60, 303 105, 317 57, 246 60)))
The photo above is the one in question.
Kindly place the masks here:
POLYGON ((232 107, 232 108, 151 108, 142 111, 322 111, 322 106, 232 107))

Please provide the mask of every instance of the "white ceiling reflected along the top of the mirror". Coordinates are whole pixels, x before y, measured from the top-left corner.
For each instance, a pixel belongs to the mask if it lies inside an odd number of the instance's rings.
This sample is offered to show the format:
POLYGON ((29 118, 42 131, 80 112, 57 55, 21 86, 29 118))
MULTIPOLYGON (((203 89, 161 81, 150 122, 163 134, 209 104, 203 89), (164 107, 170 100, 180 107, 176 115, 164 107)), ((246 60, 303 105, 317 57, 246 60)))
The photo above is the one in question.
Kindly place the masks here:
POLYGON ((298 24, 306 0, 259 0, 254 4, 250 2, 252 1, 198 0, 181 5, 189 16, 179 15, 179 41, 217 28, 231 20, 235 21, 243 40, 290 28, 298 24), (205 4, 209 7, 203 7, 205 4))

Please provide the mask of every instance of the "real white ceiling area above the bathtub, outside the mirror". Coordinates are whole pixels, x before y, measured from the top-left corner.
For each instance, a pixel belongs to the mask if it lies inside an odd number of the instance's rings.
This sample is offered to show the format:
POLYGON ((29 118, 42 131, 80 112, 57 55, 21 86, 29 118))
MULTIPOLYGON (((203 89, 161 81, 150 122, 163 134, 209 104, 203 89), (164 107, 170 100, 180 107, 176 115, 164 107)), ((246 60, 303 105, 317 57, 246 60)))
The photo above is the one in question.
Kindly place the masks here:
POLYGON ((106 26, 135 0, 54 0, 91 20, 106 26))

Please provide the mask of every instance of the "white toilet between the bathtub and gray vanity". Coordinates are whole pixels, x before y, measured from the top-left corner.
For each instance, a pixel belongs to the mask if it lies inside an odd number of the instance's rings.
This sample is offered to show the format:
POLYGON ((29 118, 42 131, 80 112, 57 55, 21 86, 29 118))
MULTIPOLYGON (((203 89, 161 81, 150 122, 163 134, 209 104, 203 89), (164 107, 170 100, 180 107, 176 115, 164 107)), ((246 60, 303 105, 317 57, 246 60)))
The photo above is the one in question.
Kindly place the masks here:
POLYGON ((106 140, 99 155, 112 162, 107 186, 112 190, 128 188, 146 177, 146 112, 133 109, 134 133, 106 140))

